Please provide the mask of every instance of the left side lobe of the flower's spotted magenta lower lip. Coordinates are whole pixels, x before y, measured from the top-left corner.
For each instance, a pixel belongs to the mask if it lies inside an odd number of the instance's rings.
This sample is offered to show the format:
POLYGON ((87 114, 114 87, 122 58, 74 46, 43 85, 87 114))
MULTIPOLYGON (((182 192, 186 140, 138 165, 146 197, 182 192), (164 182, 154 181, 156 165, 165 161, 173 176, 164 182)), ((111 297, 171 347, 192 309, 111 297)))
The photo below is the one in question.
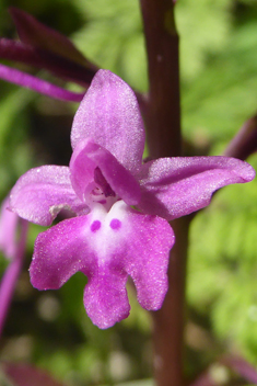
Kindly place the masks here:
POLYGON ((66 219, 39 234, 30 266, 32 285, 37 290, 58 290, 79 270, 96 269, 83 237, 87 216, 66 219), (86 253, 86 252, 87 253, 86 253))

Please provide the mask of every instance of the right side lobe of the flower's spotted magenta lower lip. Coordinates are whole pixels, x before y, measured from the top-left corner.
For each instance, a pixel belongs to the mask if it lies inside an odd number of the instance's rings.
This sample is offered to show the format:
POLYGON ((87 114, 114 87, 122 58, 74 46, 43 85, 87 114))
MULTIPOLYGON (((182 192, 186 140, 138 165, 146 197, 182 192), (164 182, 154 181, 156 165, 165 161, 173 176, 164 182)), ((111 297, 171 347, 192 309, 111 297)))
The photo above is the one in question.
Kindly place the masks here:
POLYGON ((127 208, 130 234, 126 245, 127 273, 132 277, 139 304, 149 310, 161 308, 167 291, 167 265, 175 236, 170 224, 127 208))

